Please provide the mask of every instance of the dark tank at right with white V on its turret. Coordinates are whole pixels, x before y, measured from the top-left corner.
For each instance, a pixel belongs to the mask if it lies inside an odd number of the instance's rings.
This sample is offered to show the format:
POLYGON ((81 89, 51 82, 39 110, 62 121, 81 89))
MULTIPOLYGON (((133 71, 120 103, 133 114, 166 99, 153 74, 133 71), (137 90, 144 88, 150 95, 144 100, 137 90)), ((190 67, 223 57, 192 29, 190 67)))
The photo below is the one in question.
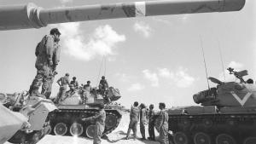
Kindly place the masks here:
POLYGON ((201 107, 168 110, 175 144, 256 143, 256 85, 242 78, 246 70, 228 70, 240 83, 209 78, 217 86, 193 95, 201 107))

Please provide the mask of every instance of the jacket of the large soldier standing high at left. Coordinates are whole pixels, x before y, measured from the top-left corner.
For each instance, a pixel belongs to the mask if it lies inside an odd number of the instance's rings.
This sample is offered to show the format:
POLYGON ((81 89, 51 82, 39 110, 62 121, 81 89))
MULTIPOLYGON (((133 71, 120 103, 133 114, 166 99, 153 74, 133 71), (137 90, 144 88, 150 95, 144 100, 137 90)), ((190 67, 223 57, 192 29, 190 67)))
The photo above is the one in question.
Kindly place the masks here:
POLYGON ((58 65, 60 53, 61 49, 59 43, 55 42, 52 35, 45 35, 36 48, 35 55, 37 56, 37 60, 35 66, 37 68, 47 66, 50 60, 53 61, 54 65, 58 65))

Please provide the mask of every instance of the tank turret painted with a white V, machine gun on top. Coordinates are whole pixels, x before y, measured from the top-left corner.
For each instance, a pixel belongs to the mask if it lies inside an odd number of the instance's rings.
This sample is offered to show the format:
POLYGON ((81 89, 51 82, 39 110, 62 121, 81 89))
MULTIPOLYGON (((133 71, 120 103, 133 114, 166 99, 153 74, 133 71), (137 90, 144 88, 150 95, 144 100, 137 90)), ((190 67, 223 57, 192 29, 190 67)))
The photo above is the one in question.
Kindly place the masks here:
POLYGON ((228 71, 238 78, 240 83, 224 83, 210 77, 212 83, 218 84, 217 87, 195 94, 193 96, 195 103, 201 103, 201 106, 256 107, 256 85, 242 78, 247 75, 247 70, 236 72, 233 68, 228 68, 228 71))

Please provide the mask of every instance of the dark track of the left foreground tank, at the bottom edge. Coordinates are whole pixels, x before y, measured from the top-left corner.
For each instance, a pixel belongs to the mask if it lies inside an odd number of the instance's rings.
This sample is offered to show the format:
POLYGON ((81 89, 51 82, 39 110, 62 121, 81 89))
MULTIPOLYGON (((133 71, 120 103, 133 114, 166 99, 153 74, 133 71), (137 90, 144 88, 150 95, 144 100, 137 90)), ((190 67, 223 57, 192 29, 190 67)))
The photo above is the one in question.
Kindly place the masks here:
POLYGON ((34 130, 31 133, 26 133, 24 130, 18 130, 15 135, 9 139, 11 143, 22 143, 22 144, 36 144, 41 140, 44 135, 49 134, 50 126, 49 120, 45 122, 42 130, 34 130))

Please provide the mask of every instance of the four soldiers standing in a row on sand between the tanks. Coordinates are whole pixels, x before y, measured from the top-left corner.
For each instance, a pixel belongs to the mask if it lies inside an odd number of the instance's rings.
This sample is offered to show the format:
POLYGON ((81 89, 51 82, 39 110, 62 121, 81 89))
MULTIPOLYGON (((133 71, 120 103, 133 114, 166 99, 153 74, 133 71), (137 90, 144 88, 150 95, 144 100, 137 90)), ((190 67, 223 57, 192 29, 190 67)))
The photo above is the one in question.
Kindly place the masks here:
POLYGON ((160 112, 154 112, 154 105, 149 106, 149 110, 145 104, 135 101, 131 106, 130 124, 127 130, 126 140, 129 139, 131 130, 133 131, 134 138, 137 139, 137 125, 140 124, 140 132, 142 135, 141 140, 146 140, 145 125, 148 124, 148 140, 155 141, 154 127, 160 133, 160 144, 167 144, 168 141, 168 113, 165 112, 166 104, 160 103, 160 112), (155 125, 156 124, 156 125, 155 125))

